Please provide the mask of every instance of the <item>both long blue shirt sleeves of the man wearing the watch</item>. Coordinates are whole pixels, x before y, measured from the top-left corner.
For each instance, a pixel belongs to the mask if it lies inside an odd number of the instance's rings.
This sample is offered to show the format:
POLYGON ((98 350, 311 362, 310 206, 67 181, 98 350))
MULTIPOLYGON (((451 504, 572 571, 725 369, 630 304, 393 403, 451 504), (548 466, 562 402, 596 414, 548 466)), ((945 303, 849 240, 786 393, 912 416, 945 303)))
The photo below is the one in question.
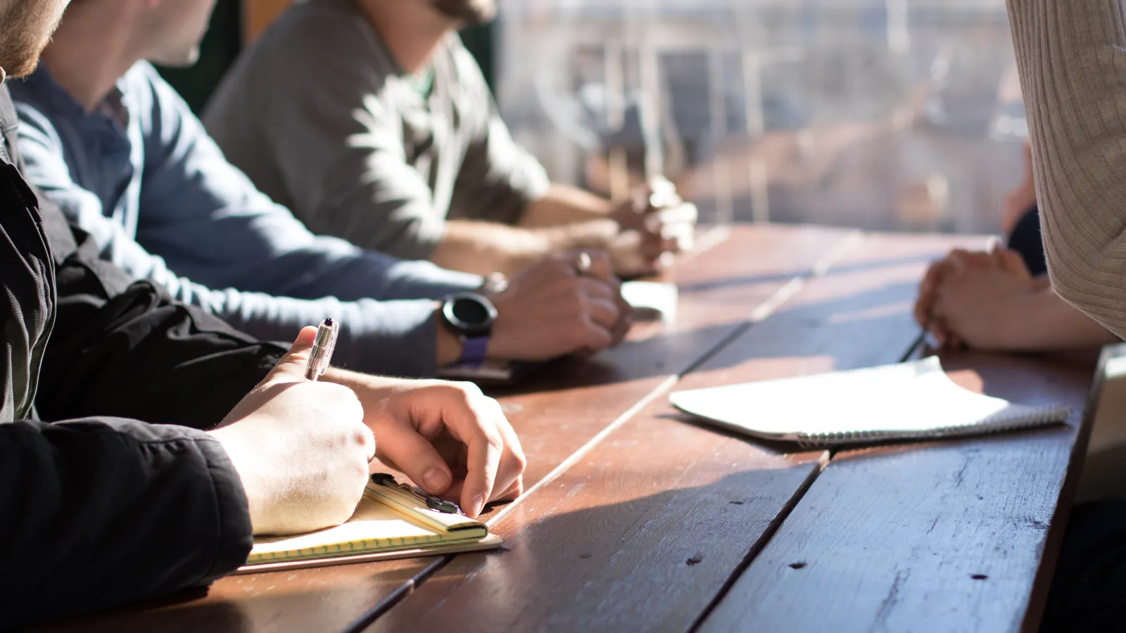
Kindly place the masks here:
POLYGON ((173 109, 179 107, 186 116, 163 113, 161 119, 171 126, 161 130, 169 142, 149 148, 162 151, 163 160, 150 155, 137 221, 138 235, 163 257, 142 247, 120 219, 104 214, 98 196, 72 180, 59 131, 25 102, 19 140, 27 178, 95 237, 104 258, 164 285, 179 301, 267 340, 292 340, 301 327, 333 316, 342 323, 336 365, 434 375, 435 300, 477 287, 481 278, 311 235, 226 166, 176 97, 173 109), (286 294, 292 296, 277 296, 286 294))

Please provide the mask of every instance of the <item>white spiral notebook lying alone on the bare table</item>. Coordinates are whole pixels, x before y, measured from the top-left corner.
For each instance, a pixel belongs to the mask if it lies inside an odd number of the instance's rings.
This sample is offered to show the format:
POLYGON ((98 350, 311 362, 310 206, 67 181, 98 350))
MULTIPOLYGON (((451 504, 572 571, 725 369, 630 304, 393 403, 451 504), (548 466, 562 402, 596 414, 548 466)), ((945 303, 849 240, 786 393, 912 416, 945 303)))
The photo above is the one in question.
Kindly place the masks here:
POLYGON ((1071 409, 1028 407, 956 385, 938 357, 867 369, 679 391, 674 407, 763 439, 826 447, 933 439, 1060 424, 1071 409))

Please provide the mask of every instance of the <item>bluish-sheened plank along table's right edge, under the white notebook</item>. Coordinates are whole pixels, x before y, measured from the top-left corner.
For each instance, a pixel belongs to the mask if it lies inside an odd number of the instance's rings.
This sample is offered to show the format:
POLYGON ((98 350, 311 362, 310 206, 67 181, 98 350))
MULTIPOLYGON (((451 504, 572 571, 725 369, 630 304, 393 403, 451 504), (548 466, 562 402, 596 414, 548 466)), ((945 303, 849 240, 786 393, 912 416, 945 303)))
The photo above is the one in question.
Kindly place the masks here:
POLYGON ((1093 364, 944 365, 968 389, 1074 412, 1052 429, 834 456, 701 632, 1036 630, 1039 609, 1026 613, 1074 493, 1093 364))

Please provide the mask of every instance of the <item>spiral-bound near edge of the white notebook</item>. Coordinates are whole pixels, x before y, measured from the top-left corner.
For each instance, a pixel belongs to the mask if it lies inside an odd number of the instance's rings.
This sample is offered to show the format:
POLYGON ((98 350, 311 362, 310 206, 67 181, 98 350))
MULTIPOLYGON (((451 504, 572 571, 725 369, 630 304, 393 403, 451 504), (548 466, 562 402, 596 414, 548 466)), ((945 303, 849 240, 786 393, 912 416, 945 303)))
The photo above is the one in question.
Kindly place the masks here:
POLYGON ((1009 408, 981 420, 975 425, 945 427, 924 431, 870 431, 850 430, 840 433, 798 434, 797 445, 802 448, 829 448, 848 444, 866 444, 892 439, 926 440, 942 437, 959 437, 1003 433, 1051 422, 1062 422, 1071 417, 1071 407, 1048 404, 1031 412, 1021 408, 1009 408))

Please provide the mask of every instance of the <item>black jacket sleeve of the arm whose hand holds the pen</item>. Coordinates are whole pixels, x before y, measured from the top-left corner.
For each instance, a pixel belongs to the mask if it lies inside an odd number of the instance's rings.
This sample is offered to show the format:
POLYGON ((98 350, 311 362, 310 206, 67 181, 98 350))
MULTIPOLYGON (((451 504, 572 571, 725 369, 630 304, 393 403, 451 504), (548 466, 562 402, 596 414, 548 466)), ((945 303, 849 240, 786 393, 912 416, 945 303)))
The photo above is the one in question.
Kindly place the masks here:
POLYGON ((194 429, 0 424, 0 630, 206 585, 244 563, 247 499, 194 429))

